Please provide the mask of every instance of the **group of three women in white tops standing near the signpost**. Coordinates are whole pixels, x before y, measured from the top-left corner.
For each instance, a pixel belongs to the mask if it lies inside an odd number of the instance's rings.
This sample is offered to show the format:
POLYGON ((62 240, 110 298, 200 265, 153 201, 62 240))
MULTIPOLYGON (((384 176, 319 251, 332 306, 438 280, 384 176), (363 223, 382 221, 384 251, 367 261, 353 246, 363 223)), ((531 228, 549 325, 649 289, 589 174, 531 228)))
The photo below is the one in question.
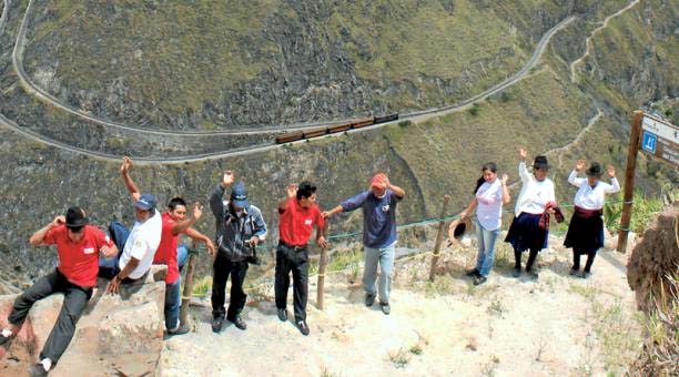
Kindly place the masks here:
MULTIPOLYGON (((521 190, 516 201, 514 220, 505 242, 514 248, 515 266, 514 277, 521 274, 521 254, 528 251, 526 273, 533 278, 538 277, 535 262, 538 253, 547 247, 550 217, 557 222, 564 221, 564 215, 557 205, 554 182, 547 177, 549 163, 547 157, 539 155, 533 163, 533 173, 528 171, 526 149, 519 150, 518 173, 521 180, 521 190)), ((586 161, 578 160, 575 169, 568 176, 568 182, 578 187, 575 195, 575 211, 564 245, 572 248, 572 267, 570 275, 587 278, 591 275, 591 265, 597 251, 604 246, 604 200, 606 194, 620 191, 620 184, 616 179, 616 170, 608 166, 607 173, 610 184, 602 182, 604 169, 598 162, 592 162, 586 170, 586 161), (580 177, 581 173, 586 177, 580 177), (580 256, 587 255, 587 262, 580 271, 580 256)), ((482 167, 483 175, 478 179, 474 191, 474 198, 462 212, 465 218, 476 210, 476 238, 478 255, 476 266, 467 271, 467 276, 474 278, 475 285, 484 284, 493 268, 495 255, 495 241, 501 225, 503 204, 510 202, 507 188, 507 174, 497 177, 497 167, 494 163, 487 163, 482 167)), ((454 226, 450 224, 450 237, 454 236, 454 226)))

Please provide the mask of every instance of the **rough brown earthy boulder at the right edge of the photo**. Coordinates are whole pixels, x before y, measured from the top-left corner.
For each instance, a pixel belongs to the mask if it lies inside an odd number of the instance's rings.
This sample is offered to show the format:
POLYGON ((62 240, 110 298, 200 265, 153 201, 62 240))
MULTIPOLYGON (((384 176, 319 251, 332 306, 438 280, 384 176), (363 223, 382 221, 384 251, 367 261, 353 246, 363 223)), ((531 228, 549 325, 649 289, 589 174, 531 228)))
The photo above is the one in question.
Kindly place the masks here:
POLYGON ((679 273, 679 207, 661 213, 632 249, 627 283, 635 291, 637 307, 649 312, 653 300, 671 297, 668 274, 679 273))

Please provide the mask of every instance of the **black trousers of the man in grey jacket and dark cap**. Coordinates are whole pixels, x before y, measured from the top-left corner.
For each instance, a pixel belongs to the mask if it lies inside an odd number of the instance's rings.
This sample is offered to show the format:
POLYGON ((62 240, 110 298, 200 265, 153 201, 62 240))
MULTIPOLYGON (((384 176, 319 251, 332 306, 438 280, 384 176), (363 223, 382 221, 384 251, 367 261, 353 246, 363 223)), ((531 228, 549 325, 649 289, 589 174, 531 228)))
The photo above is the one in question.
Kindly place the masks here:
POLYGON ((247 262, 232 262, 217 253, 212 264, 212 316, 224 317, 233 322, 243 312, 247 295, 243 292, 243 282, 247 274, 247 262), (224 310, 226 281, 231 275, 229 312, 224 310))

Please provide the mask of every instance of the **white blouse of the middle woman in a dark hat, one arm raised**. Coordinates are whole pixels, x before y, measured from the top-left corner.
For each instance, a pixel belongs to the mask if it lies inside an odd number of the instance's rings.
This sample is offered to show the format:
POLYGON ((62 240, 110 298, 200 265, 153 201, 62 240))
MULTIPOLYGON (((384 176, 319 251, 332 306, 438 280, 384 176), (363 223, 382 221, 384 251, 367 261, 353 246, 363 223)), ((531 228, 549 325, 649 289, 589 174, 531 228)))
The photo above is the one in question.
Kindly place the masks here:
POLYGON ((524 185, 516 201, 514 210, 516 216, 520 215, 521 212, 538 215, 545 212, 547 203, 556 203, 554 182, 550 179, 538 181, 535 175, 528 172, 525 161, 519 162, 519 176, 524 185))

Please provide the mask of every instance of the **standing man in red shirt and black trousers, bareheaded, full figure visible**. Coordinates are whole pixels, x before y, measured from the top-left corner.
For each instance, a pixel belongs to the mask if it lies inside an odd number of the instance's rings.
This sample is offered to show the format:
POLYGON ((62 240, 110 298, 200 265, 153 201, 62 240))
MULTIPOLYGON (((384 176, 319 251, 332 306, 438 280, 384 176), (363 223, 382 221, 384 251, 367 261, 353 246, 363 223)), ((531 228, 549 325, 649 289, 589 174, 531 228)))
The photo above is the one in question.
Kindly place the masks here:
POLYGON ((316 205, 316 186, 308 182, 300 186, 287 186, 287 197, 278 203, 278 247, 276 248, 275 294, 278 319, 287 320, 287 289, 290 272, 293 274, 295 324, 303 335, 308 335, 306 325, 306 298, 308 296, 307 243, 316 226, 316 244, 326 247, 325 221, 316 205))

